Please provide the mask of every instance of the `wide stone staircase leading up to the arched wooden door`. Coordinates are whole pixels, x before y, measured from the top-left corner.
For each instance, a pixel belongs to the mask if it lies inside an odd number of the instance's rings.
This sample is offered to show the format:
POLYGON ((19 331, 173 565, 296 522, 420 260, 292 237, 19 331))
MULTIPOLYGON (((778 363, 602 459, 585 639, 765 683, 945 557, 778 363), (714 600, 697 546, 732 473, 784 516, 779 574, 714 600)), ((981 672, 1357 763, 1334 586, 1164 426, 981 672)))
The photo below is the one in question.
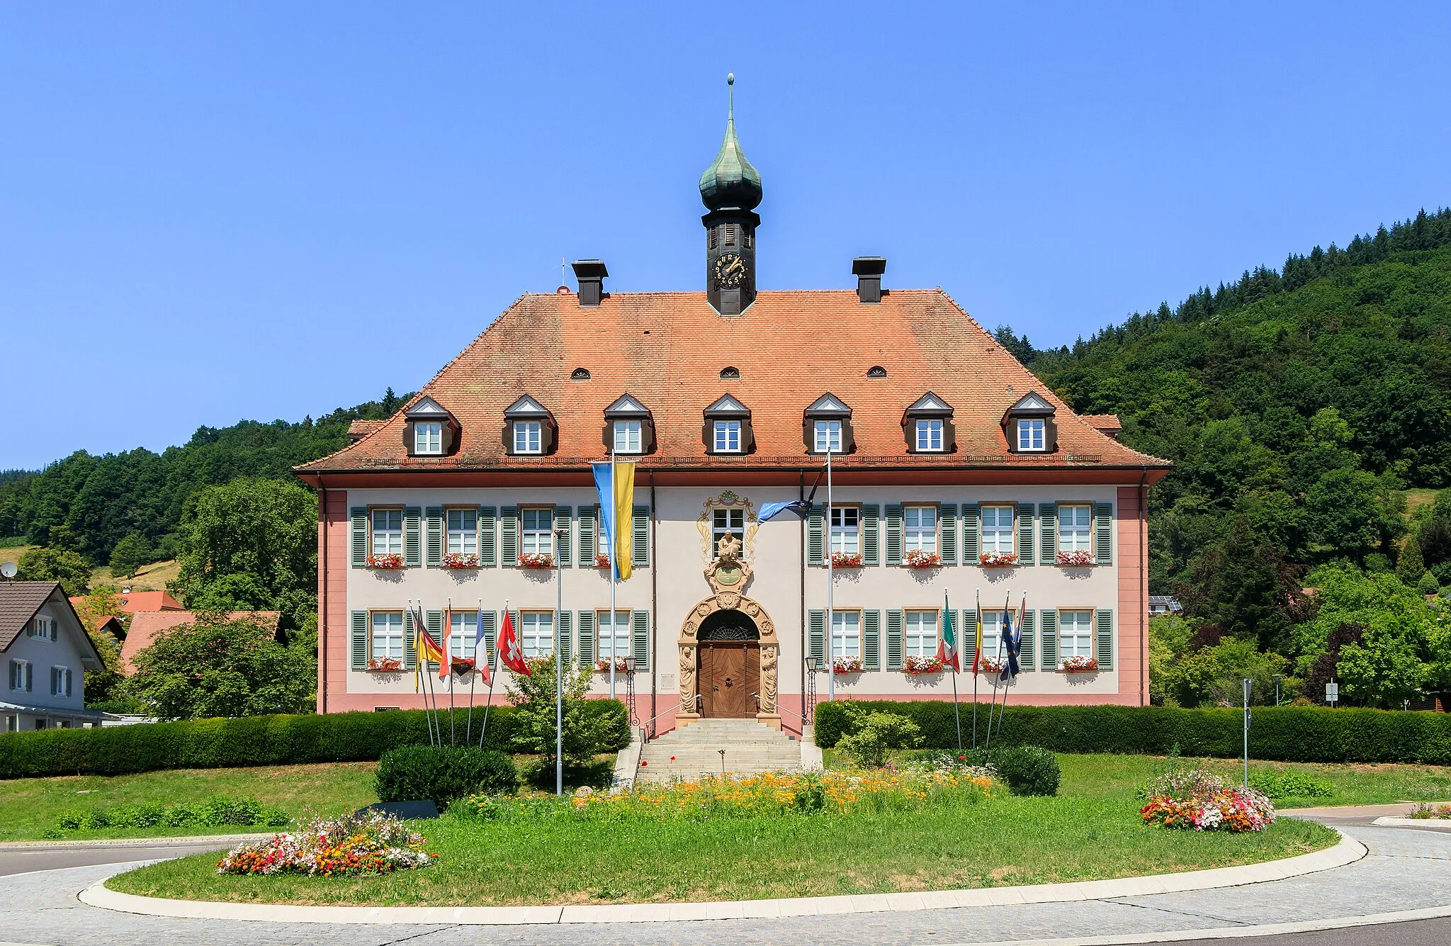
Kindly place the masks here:
POLYGON ((695 781, 723 765, 730 775, 798 772, 801 743, 756 720, 698 720, 647 743, 640 762, 636 782, 695 781))

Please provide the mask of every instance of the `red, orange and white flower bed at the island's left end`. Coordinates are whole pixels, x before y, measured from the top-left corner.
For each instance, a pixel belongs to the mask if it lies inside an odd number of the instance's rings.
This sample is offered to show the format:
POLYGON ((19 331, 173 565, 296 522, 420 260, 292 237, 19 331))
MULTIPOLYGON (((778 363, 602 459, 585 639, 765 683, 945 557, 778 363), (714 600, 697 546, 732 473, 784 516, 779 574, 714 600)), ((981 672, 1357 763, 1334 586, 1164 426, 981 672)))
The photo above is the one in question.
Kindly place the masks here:
POLYGON ((422 834, 379 811, 313 820, 297 831, 238 844, 216 863, 218 873, 308 873, 355 876, 427 868, 434 855, 422 834))

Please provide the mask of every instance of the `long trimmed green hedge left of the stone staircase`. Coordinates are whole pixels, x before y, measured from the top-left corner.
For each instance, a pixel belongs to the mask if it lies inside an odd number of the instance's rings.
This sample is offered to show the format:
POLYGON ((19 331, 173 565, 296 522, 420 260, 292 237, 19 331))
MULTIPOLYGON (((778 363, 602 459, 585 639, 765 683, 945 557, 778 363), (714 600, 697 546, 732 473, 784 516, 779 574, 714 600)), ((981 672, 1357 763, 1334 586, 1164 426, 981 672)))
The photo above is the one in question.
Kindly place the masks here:
MULTIPOLYGON (((599 746, 599 752, 618 752, 630 743, 630 723, 622 702, 589 699, 585 710, 609 720, 608 744, 599 746)), ((460 740, 466 715, 467 711, 454 712, 460 740)), ((482 718, 483 714, 474 711, 474 739, 482 718)), ((444 727, 447 725, 445 718, 444 727)), ((512 707, 493 707, 483 747, 508 752, 517 727, 512 707)), ((389 749, 427 743, 428 724, 422 710, 38 730, 0 736, 0 779, 299 762, 370 762, 389 749)))

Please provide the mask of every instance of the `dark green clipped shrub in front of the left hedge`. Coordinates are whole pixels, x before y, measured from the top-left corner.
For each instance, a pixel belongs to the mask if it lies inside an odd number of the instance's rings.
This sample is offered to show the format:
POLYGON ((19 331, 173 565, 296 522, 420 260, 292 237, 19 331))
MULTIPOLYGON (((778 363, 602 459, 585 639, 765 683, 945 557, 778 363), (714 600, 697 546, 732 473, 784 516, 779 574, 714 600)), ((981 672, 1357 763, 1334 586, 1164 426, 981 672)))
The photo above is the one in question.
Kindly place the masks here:
POLYGON ((457 798, 512 794, 519 773, 498 749, 403 746, 383 753, 374 783, 382 801, 427 798, 443 811, 457 798))

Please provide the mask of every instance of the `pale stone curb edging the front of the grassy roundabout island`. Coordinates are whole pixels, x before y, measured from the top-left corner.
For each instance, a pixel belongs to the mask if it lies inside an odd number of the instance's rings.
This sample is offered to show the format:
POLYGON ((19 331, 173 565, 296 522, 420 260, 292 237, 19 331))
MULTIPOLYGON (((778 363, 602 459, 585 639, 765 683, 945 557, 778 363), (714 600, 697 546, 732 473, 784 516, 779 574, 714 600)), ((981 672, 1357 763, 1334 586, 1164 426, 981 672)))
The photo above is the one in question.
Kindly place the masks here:
MULTIPOLYGON (((1220 887, 1283 881, 1303 873, 1342 868, 1364 857, 1365 846, 1341 834, 1335 847, 1309 855, 1238 868, 1185 871, 1113 881, 1032 884, 963 891, 863 894, 853 897, 794 897, 694 904, 607 904, 599 907, 300 907, 289 904, 231 904, 196 900, 163 900, 122 894, 97 881, 80 892, 80 901, 103 910, 190 920, 257 920, 267 923, 408 923, 467 926, 534 926, 554 923, 660 923, 675 920, 759 920, 815 917, 843 913, 910 913, 953 907, 1074 902, 1113 897, 1146 897, 1220 887)), ((1129 942, 1129 940, 1110 940, 1129 942)))

